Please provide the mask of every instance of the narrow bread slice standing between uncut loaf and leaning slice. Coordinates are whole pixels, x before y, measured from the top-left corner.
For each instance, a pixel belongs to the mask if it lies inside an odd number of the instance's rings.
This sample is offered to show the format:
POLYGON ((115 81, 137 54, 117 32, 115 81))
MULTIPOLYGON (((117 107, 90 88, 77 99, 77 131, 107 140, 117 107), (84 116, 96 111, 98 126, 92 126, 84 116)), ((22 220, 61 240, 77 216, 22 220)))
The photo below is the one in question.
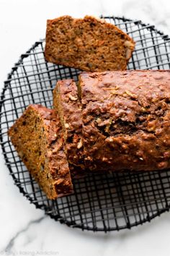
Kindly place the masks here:
POLYGON ((71 174, 74 172, 78 174, 84 170, 84 150, 81 138, 81 103, 76 82, 73 80, 57 82, 53 90, 53 106, 61 119, 71 174))

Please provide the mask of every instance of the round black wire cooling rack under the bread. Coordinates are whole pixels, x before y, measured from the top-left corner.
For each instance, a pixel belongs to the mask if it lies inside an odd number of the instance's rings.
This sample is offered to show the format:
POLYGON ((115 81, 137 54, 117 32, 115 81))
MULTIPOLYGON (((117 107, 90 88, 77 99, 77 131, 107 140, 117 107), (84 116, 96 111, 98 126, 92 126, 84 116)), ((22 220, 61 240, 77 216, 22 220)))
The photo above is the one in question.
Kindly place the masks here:
MULTIPOLYGON (((104 18, 127 32, 136 42, 128 69, 170 68, 168 35, 140 20, 104 18)), ((58 200, 47 199, 7 137, 7 130, 29 104, 52 107, 52 91, 57 80, 78 78, 79 70, 47 63, 44 46, 44 40, 40 40, 22 54, 4 82, 1 94, 1 147, 6 166, 20 192, 51 218, 82 230, 130 229, 169 210, 170 170, 89 174, 73 181, 74 195, 58 200)))

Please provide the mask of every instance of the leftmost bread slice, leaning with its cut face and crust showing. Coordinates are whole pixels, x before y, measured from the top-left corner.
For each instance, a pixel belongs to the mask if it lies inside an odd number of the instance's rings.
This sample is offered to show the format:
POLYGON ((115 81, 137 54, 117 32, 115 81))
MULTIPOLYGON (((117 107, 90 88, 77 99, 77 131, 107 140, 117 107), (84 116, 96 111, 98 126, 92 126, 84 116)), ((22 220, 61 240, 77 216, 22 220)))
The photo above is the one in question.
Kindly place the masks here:
POLYGON ((54 110, 30 105, 9 129, 19 157, 49 199, 73 192, 63 150, 61 123, 54 110))

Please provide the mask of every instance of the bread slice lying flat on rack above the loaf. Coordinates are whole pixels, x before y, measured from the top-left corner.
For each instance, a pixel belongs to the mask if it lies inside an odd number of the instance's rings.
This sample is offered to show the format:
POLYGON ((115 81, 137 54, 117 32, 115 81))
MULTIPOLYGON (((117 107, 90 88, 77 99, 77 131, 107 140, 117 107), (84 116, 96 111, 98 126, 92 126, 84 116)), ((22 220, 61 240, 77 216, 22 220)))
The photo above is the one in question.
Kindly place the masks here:
POLYGON ((70 16, 48 20, 45 59, 84 71, 126 69, 135 43, 103 19, 70 16))

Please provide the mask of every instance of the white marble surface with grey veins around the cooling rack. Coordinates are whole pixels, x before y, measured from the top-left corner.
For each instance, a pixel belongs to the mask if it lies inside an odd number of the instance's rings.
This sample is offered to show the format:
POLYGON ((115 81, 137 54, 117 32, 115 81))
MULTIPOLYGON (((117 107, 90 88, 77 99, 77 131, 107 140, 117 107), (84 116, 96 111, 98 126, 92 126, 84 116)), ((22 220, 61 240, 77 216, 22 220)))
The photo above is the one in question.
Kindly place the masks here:
MULTIPOLYGON (((123 15, 170 34, 169 0, 0 0, 0 90, 19 55, 44 37, 46 20, 63 14, 123 15)), ((170 255, 169 213, 131 231, 93 234, 70 229, 30 205, 14 186, 2 156, 0 166, 1 255, 170 255)))

